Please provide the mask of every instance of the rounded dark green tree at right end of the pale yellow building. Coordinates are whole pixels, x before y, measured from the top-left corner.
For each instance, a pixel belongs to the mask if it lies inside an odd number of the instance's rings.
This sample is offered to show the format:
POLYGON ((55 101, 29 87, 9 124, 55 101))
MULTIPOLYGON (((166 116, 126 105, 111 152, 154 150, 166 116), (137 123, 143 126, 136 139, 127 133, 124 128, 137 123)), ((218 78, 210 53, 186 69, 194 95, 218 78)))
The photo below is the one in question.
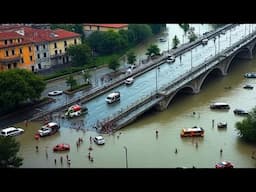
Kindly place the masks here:
POLYGON ((80 45, 71 45, 67 48, 67 54, 71 56, 72 64, 74 66, 83 66, 92 61, 92 50, 85 43, 80 45))

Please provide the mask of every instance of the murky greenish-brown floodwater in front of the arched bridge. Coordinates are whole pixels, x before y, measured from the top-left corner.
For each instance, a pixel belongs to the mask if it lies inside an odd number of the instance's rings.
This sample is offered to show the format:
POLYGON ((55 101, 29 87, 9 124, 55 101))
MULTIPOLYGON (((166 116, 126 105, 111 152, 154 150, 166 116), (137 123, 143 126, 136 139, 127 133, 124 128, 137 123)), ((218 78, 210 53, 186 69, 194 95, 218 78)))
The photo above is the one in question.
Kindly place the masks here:
POLYGON ((71 168, 125 168, 125 146, 129 168, 214 168, 221 160, 231 161, 236 168, 255 168, 256 161, 251 158, 251 154, 256 150, 256 146, 244 143, 238 138, 235 123, 243 117, 233 113, 235 108, 250 110, 255 106, 256 79, 243 77, 244 73, 251 71, 256 71, 255 58, 239 60, 231 64, 227 76, 206 80, 198 94, 177 95, 166 111, 150 111, 114 135, 103 135, 105 145, 91 144, 93 162, 88 159, 88 148, 89 138, 97 135, 96 132, 84 133, 65 127, 64 124, 59 133, 35 140, 34 133, 42 123, 30 122, 28 127, 25 127, 24 122, 19 123, 16 126, 25 129, 25 133, 17 137, 21 143, 19 154, 24 158, 22 167, 67 168, 68 154, 71 168), (254 89, 243 89, 245 84, 253 85, 254 89), (210 110, 209 105, 213 102, 226 102, 230 104, 231 109, 210 110), (217 128, 216 124, 220 121, 227 122, 226 129, 217 128), (203 138, 180 137, 182 128, 195 125, 205 129, 203 138), (76 141, 79 137, 83 138, 83 143, 77 148, 76 141), (58 143, 70 144, 71 150, 53 153, 52 148, 58 143), (39 147, 38 152, 36 146, 39 147), (222 155, 220 149, 223 150, 222 155))

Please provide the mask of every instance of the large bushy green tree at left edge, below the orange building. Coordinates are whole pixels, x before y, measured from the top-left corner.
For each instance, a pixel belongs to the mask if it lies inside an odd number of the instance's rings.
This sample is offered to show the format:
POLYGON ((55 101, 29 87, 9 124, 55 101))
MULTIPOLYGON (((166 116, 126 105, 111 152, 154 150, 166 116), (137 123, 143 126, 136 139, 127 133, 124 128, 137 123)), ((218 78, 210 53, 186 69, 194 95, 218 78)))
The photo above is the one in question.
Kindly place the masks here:
POLYGON ((25 69, 11 69, 1 72, 1 110, 10 110, 21 103, 40 99, 45 85, 46 83, 41 77, 25 69))

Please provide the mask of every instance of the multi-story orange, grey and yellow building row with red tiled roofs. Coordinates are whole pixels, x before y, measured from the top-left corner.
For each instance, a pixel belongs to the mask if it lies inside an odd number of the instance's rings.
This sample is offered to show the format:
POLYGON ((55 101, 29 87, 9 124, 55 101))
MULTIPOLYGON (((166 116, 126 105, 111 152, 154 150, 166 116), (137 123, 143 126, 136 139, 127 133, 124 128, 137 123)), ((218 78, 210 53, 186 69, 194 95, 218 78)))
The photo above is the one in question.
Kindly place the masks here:
POLYGON ((16 67, 39 71, 67 63, 67 47, 76 44, 81 44, 80 34, 62 29, 0 27, 0 71, 16 67))

